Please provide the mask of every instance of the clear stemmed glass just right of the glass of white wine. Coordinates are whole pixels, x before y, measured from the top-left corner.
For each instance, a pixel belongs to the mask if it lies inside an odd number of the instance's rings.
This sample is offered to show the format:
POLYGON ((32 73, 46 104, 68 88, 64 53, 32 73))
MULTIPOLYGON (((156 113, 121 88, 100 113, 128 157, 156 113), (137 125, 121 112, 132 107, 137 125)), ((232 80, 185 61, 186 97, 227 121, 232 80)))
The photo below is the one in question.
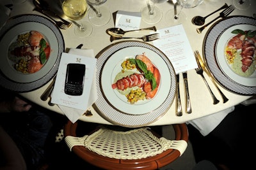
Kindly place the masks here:
POLYGON ((93 25, 102 26, 109 22, 111 14, 105 6, 100 6, 103 3, 106 3, 107 0, 86 0, 90 5, 91 9, 89 10, 89 20, 93 25), (94 7, 97 6, 97 7, 94 7))

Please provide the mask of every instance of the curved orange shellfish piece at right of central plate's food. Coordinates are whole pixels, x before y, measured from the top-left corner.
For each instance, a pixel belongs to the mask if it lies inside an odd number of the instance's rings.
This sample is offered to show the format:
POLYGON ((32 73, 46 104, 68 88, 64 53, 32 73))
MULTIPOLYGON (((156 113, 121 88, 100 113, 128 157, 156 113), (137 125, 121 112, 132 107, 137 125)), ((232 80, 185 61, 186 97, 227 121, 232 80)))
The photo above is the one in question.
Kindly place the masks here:
POLYGON ((147 82, 143 85, 143 90, 146 93, 146 99, 152 99, 154 96, 156 96, 156 92, 158 90, 160 80, 161 80, 161 74, 159 73, 159 70, 157 67, 154 67, 154 77, 156 78, 156 89, 152 90, 151 83, 147 82))

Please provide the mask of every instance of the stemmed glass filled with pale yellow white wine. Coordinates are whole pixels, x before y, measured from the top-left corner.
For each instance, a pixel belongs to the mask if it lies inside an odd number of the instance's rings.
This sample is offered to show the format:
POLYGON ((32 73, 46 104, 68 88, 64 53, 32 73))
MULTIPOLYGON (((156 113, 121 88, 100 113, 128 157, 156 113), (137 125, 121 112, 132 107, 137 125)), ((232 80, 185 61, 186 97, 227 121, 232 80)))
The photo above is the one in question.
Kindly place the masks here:
POLYGON ((64 0, 62 3, 63 13, 76 25, 74 33, 79 37, 86 37, 92 34, 90 22, 82 20, 86 15, 86 0, 64 0), (75 20, 79 20, 77 23, 75 20))

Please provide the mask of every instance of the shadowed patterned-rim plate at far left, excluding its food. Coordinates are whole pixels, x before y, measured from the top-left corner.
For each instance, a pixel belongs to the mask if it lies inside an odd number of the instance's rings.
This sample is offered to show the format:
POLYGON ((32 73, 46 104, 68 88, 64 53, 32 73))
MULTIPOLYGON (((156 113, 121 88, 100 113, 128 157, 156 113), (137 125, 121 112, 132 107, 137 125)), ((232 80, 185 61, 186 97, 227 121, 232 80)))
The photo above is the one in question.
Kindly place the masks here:
POLYGON ((0 30, 1 86, 15 92, 29 92, 45 85, 58 71, 61 52, 64 51, 64 39, 60 29, 49 19, 39 15, 19 15, 10 18, 0 30), (9 46, 16 41, 19 34, 29 31, 42 33, 51 46, 51 55, 44 66, 36 73, 24 74, 13 68, 8 59, 9 46))

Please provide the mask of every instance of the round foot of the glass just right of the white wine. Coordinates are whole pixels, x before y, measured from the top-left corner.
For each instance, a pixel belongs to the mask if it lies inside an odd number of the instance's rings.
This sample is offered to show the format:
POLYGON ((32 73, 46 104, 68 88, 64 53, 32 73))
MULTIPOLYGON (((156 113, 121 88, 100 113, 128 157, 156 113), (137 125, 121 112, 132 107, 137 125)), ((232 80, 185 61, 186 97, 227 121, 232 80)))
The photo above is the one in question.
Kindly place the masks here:
POLYGON ((108 24, 111 18, 108 8, 104 6, 100 6, 99 10, 101 13, 101 17, 98 17, 96 12, 93 11, 92 8, 90 9, 89 15, 88 15, 90 22, 96 26, 102 26, 102 25, 108 24))

